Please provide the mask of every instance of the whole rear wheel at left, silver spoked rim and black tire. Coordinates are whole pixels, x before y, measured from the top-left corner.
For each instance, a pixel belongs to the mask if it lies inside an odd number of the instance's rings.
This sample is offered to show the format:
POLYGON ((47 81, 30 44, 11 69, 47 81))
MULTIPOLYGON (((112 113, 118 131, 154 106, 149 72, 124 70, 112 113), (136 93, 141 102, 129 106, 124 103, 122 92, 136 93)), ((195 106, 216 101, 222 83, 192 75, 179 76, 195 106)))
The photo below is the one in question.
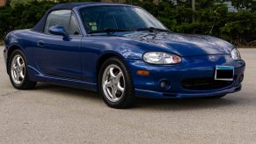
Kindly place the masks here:
POLYGON ((8 63, 8 73, 11 84, 18 90, 33 89, 36 85, 36 82, 28 78, 26 58, 20 50, 12 52, 8 63))

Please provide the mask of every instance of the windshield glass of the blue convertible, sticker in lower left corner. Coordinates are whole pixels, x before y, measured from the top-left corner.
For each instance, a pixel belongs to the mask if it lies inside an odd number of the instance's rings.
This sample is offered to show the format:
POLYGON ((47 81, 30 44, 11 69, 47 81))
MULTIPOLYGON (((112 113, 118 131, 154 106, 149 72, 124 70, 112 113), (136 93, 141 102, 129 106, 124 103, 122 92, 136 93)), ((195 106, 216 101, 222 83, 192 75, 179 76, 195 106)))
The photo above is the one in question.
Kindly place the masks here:
POLYGON ((80 10, 86 32, 167 31, 149 12, 133 6, 104 5, 80 10))

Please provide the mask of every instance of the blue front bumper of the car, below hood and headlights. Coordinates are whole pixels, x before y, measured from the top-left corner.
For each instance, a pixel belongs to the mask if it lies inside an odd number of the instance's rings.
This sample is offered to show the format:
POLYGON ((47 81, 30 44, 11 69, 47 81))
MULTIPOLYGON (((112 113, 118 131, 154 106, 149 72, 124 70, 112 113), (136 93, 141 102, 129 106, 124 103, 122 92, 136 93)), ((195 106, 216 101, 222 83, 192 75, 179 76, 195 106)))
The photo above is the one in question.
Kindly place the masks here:
POLYGON ((227 55, 208 55, 183 57, 176 65, 152 65, 139 60, 126 60, 133 76, 136 97, 182 98, 182 97, 212 97, 241 90, 241 77, 244 76, 245 61, 234 61, 227 55), (234 81, 230 84, 207 90, 190 90, 183 86, 187 79, 214 79, 216 65, 235 68, 234 81), (137 70, 148 70, 149 76, 138 76, 137 70), (168 82, 167 89, 160 86, 168 82))

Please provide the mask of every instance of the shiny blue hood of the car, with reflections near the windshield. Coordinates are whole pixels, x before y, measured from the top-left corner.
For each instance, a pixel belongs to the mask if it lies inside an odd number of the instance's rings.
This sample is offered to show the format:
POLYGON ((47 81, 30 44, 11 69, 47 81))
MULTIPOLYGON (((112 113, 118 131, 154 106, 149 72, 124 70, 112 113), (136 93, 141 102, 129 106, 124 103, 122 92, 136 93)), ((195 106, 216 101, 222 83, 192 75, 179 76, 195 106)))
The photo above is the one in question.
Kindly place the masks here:
POLYGON ((207 35, 170 32, 134 32, 122 35, 128 40, 144 43, 148 51, 166 51, 180 56, 230 54, 233 46, 225 41, 207 35))

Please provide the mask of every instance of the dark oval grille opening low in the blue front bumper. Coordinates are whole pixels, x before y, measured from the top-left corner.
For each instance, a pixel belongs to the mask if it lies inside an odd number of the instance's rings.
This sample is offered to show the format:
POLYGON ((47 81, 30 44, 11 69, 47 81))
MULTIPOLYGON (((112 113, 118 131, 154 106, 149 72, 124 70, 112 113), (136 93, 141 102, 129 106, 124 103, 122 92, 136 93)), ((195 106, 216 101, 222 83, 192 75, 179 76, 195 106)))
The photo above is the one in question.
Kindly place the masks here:
POLYGON ((216 81, 213 78, 194 78, 182 82, 182 87, 187 90, 218 90, 229 86, 232 81, 216 81))

